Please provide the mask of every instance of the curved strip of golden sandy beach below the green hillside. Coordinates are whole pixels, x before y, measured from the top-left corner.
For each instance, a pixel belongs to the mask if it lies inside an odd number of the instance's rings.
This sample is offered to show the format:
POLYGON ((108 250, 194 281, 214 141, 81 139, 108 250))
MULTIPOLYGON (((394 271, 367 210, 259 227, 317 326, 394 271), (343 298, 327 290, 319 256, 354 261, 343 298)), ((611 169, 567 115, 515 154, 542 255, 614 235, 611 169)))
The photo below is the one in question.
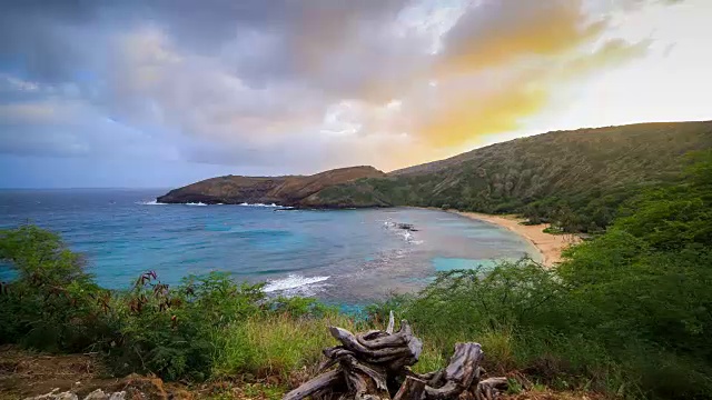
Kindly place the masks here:
POLYGON ((561 252, 573 243, 577 243, 581 239, 574 234, 552 234, 545 233, 543 230, 548 227, 547 223, 541 223, 535 226, 524 226, 520 222, 524 219, 515 216, 491 216, 478 212, 464 212, 451 210, 463 217, 472 218, 475 220, 496 224, 502 228, 506 228, 514 233, 517 233, 526 238, 532 244, 538 249, 542 254, 542 263, 546 267, 552 267, 561 261, 561 252))

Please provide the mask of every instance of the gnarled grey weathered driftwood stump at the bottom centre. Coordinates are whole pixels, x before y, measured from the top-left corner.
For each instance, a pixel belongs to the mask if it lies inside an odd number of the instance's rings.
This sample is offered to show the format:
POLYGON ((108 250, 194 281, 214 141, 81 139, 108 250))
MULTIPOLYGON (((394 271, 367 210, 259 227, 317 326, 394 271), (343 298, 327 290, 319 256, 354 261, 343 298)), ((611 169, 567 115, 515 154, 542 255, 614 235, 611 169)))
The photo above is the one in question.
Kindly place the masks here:
POLYGON ((457 343, 448 366, 439 371, 415 373, 423 343, 407 321, 394 332, 390 312, 385 331, 354 334, 329 327, 342 344, 324 349, 319 374, 285 394, 283 400, 494 400, 506 389, 506 378, 484 379, 478 343, 457 343))

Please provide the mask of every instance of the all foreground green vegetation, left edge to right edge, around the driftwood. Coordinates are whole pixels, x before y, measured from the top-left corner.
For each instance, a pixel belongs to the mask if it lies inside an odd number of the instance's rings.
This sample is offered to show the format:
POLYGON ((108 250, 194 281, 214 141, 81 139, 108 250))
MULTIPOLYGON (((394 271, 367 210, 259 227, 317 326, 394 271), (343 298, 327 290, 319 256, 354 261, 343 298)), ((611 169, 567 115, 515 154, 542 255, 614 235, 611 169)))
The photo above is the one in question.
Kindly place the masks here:
POLYGON ((294 386, 334 343, 324 326, 382 328, 395 310, 425 343, 421 371, 475 340, 493 373, 611 398, 712 399, 712 152, 674 181, 626 201, 605 233, 554 270, 520 261, 441 273, 358 320, 310 299, 267 299, 221 274, 169 288, 149 272, 131 290, 108 291, 56 234, 0 231, 0 259, 18 272, 1 288, 0 344, 100 351, 117 373, 294 386))

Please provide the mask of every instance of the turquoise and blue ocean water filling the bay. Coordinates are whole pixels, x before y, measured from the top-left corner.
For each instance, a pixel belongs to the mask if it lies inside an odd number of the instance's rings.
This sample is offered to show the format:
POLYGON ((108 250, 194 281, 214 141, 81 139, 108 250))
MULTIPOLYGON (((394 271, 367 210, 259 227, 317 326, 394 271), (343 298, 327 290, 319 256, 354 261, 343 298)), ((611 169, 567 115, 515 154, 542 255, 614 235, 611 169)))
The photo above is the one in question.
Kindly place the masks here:
MULTIPOLYGON (((444 211, 156 203, 165 192, 0 190, 0 228, 29 222, 61 233, 108 288, 128 288, 148 270, 168 284, 224 271, 267 282, 268 293, 339 304, 417 291, 436 271, 538 257, 508 230, 444 211)), ((9 266, 0 264, 0 278, 11 277, 9 266)))

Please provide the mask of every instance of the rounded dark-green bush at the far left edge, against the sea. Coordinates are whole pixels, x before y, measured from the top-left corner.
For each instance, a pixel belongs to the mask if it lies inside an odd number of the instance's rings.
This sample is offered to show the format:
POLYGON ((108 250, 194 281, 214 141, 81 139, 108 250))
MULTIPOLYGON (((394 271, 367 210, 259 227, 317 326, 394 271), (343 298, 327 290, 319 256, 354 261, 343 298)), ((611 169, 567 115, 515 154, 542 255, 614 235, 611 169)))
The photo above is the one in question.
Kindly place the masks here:
POLYGON ((79 351, 110 334, 101 318, 110 294, 59 236, 33 226, 2 230, 0 260, 17 273, 0 293, 0 343, 79 351))

